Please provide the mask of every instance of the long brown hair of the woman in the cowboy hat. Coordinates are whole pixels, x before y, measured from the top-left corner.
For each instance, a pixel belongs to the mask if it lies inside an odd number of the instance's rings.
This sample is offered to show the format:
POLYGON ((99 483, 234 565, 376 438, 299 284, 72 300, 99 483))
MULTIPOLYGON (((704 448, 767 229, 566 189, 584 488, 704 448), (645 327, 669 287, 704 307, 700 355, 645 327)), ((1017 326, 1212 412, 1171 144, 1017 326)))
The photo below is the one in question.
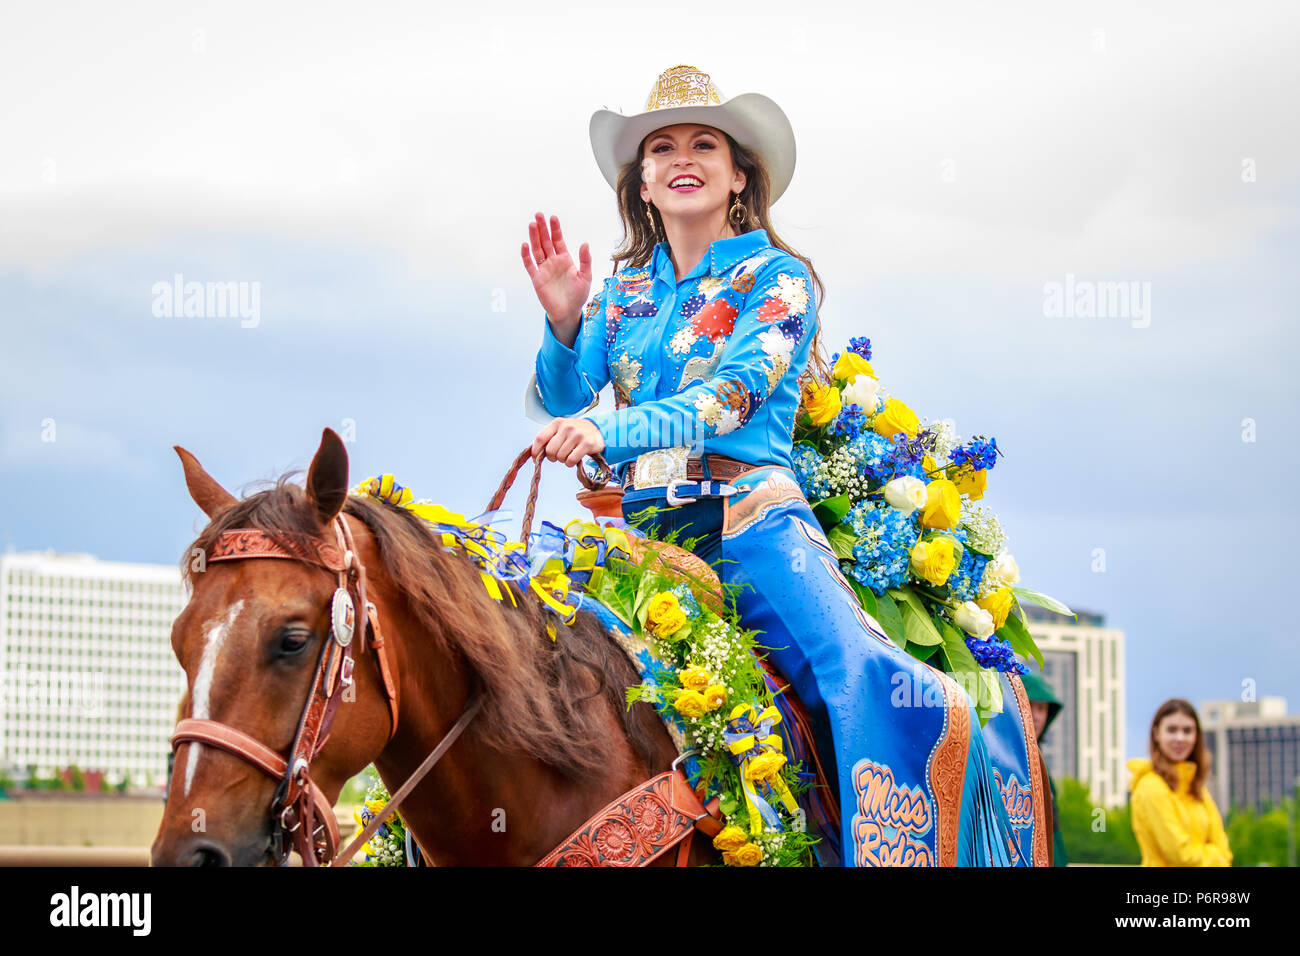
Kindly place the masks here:
MULTIPOLYGON (((822 285, 822 277, 812 268, 812 260, 790 248, 776 234, 776 229, 772 228, 771 202, 768 199, 772 195, 772 179, 762 156, 737 143, 729 133, 724 130, 718 131, 727 139, 727 146, 731 148, 732 164, 745 172, 745 189, 740 193, 740 203, 745 207, 746 219, 741 225, 741 230, 767 230, 767 238, 771 241, 772 247, 803 263, 809 271, 809 276, 812 278, 819 321, 816 330, 812 333, 812 346, 809 350, 809 367, 801 376, 801 381, 812 377, 828 382, 831 380, 831 367, 822 351, 820 315, 822 303, 826 300, 826 286, 822 285)), ((645 157, 645 146, 650 135, 653 135, 653 131, 637 143, 638 159, 623 166, 623 170, 619 173, 619 185, 614 190, 619 200, 619 219, 623 220, 623 245, 611 256, 614 272, 619 271, 621 263, 629 263, 633 267, 649 265, 655 245, 667 238, 659 211, 653 206, 650 207, 654 209, 651 213, 654 225, 651 226, 650 219, 646 217, 646 204, 641 200, 641 160, 645 157)))

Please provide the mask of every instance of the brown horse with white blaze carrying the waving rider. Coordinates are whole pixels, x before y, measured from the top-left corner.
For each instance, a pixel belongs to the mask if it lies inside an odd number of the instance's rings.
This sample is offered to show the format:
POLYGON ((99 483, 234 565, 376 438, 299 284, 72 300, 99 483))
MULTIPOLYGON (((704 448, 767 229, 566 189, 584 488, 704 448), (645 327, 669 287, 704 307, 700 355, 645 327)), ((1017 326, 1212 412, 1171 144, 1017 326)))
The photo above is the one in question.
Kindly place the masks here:
MULTIPOLYGON (((445 549, 421 519, 347 494, 347 453, 334 432, 325 431, 306 488, 282 476, 242 501, 188 451, 177 453, 191 497, 211 519, 182 561, 191 597, 172 628, 188 683, 182 714, 220 721, 285 757, 330 640, 334 576, 298 561, 204 566, 191 555, 212 554, 218 536, 235 528, 325 544, 342 512, 384 622, 399 713, 390 739, 377 654, 358 654, 354 700, 338 708, 311 765, 330 804, 372 762, 395 792, 474 693, 482 710, 400 809, 439 866, 532 865, 676 757, 653 709, 627 708, 625 688, 640 678, 590 614, 564 627, 526 589, 503 584, 516 601, 490 597, 477 567, 445 549), (558 640, 546 633, 549 622, 558 640)), ((273 862, 274 791, 270 777, 239 757, 179 743, 153 864, 273 862)), ((692 862, 712 858, 697 835, 692 862)))

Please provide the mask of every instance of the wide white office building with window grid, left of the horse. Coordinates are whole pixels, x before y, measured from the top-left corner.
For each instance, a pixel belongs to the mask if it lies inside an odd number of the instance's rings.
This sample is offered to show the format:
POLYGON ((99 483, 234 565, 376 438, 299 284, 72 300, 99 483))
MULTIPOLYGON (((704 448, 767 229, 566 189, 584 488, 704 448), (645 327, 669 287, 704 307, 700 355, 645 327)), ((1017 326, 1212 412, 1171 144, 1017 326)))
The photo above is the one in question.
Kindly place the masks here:
POLYGON ((0 555, 0 767, 161 786, 186 687, 172 622, 186 601, 174 566, 0 555))

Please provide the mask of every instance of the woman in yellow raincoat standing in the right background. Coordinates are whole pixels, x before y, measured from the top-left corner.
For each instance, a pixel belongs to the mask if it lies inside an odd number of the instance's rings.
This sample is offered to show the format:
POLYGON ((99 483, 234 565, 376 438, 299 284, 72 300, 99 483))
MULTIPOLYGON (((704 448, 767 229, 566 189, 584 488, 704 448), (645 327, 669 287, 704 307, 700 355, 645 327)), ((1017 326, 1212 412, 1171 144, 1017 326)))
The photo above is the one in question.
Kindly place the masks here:
POLYGON ((1196 709, 1165 701, 1150 723, 1150 760, 1131 760, 1132 822, 1143 866, 1230 866, 1223 819, 1205 786, 1209 754, 1196 709))

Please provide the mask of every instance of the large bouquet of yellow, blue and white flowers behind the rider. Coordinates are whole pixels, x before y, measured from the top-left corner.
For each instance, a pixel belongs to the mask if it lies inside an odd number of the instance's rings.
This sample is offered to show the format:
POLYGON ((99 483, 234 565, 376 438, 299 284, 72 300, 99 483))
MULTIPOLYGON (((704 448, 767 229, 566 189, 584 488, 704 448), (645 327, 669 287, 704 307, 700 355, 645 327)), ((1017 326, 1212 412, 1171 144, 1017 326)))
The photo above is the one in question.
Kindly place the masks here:
POLYGON ((805 385, 794 473, 863 609, 913 657, 965 678, 987 722, 1002 709, 996 671, 1028 672, 1018 654, 1043 666, 1019 602, 1072 611, 1018 587, 997 515, 975 503, 997 440, 922 428, 870 359, 871 342, 850 338, 831 381, 805 385))

